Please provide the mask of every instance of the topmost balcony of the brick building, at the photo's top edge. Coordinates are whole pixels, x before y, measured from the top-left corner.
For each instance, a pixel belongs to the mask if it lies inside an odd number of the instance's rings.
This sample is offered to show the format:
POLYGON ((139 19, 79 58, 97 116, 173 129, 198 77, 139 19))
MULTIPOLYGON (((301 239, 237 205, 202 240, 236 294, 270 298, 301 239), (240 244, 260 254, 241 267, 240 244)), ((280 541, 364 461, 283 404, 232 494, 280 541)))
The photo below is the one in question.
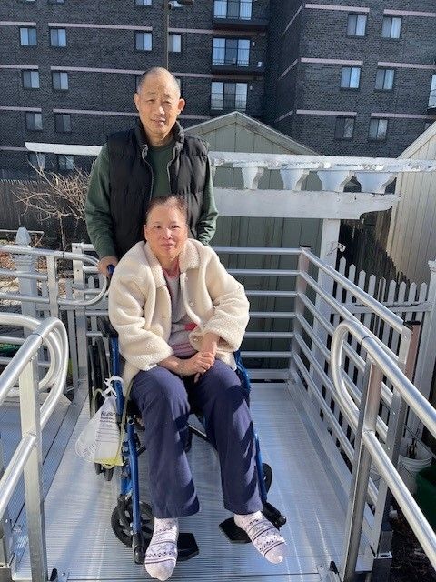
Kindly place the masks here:
POLYGON ((221 30, 265 30, 268 19, 253 16, 251 1, 215 0, 212 24, 221 30))

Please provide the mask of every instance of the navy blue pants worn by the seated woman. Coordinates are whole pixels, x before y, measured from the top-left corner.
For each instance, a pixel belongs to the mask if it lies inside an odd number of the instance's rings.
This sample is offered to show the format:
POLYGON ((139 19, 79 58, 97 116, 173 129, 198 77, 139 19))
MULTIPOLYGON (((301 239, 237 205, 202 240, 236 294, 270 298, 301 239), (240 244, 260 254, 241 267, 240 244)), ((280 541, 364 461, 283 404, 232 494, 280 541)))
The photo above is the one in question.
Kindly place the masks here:
POLYGON ((184 447, 190 403, 203 411, 206 433, 218 451, 224 507, 237 514, 262 509, 255 466, 253 423, 235 372, 220 360, 193 383, 161 366, 134 377, 130 393, 144 422, 154 517, 199 510, 184 447))

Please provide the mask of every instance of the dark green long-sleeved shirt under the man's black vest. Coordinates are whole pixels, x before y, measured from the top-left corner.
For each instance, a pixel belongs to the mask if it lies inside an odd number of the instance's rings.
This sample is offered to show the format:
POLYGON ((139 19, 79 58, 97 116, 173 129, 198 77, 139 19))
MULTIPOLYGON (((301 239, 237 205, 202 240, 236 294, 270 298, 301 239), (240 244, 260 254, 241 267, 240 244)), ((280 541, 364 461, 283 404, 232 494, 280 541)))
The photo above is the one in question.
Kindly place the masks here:
MULTIPOLYGON (((173 158, 173 146, 174 143, 148 148, 147 162, 152 166, 154 176, 152 197, 171 194, 167 166, 173 158)), ((110 209, 109 153, 106 144, 94 162, 85 203, 85 217, 88 235, 97 255, 100 258, 116 256, 110 209)), ((197 238, 204 245, 209 244, 215 233, 217 217, 218 211, 213 198, 213 180, 208 161, 202 212, 196 225, 197 238)))

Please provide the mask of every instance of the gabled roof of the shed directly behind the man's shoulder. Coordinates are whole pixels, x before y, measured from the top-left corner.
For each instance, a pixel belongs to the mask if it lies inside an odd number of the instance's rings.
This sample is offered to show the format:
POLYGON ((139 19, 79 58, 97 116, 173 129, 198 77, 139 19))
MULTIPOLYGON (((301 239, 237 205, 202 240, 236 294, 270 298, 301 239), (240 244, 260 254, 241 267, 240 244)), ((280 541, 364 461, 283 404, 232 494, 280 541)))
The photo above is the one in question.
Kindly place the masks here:
MULTIPOLYGON (((284 135, 280 131, 272 129, 272 127, 269 125, 265 125, 257 119, 253 119, 253 117, 245 115, 239 111, 233 111, 232 113, 214 117, 213 119, 204 121, 201 124, 191 125, 188 129, 186 129, 186 133, 190 135, 198 135, 207 139, 208 135, 211 135, 213 132, 217 132, 222 129, 229 129, 232 125, 234 125, 235 132, 237 130, 248 131, 251 134, 263 138, 265 141, 270 142, 271 146, 276 146, 276 148, 278 148, 274 153, 302 155, 316 155, 318 153, 312 150, 310 147, 304 146, 291 137, 288 137, 288 135, 284 135)), ((234 147, 227 150, 223 150, 223 147, 220 147, 219 149, 221 151, 235 151, 234 147)))

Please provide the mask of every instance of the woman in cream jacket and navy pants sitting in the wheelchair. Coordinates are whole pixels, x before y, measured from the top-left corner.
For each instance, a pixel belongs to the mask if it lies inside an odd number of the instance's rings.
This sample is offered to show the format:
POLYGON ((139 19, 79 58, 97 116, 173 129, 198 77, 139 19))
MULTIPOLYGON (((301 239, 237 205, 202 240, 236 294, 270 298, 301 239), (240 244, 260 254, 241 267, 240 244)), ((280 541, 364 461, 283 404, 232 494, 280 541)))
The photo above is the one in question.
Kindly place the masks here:
POLYGON ((137 243, 114 270, 109 316, 125 359, 124 386, 141 411, 154 534, 144 566, 166 580, 177 560, 178 518, 199 510, 185 454, 190 408, 203 412, 220 459, 223 504, 273 563, 285 542, 261 509, 253 423, 235 373, 249 303, 212 248, 188 239, 179 196, 154 198, 137 243))

